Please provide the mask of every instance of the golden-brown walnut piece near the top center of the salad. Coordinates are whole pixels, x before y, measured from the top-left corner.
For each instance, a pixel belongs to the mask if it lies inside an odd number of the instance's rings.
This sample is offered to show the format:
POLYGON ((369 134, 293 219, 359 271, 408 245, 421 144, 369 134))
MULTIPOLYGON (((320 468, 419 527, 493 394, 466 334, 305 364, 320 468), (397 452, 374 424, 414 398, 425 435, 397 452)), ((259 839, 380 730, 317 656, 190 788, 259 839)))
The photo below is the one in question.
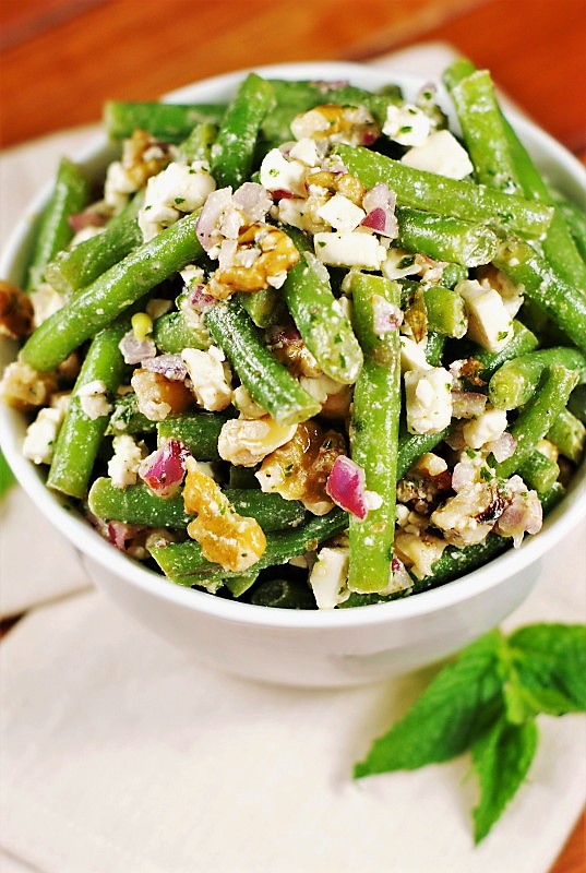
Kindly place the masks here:
POLYGON ((278 288, 298 261, 299 252, 285 231, 263 223, 250 225, 238 236, 231 263, 212 274, 206 292, 224 300, 235 291, 278 288))

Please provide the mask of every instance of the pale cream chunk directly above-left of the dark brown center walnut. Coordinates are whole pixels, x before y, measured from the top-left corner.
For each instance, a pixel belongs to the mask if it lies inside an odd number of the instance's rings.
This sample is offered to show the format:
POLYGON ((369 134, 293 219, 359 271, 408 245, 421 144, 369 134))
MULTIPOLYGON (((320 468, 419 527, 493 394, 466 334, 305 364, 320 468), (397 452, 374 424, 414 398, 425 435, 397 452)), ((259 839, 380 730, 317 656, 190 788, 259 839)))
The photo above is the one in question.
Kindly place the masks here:
POLYGON ((266 455, 292 440, 297 424, 279 424, 273 418, 231 418, 222 426, 218 453, 240 467, 254 467, 266 455))

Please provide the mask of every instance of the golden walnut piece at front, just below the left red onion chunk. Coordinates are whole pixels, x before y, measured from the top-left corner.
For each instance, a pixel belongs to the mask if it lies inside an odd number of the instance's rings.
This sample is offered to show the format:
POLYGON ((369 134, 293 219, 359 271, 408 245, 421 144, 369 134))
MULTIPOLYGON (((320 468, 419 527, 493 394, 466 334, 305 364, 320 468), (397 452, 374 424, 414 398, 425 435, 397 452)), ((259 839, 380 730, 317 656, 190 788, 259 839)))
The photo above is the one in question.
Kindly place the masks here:
POLYGON ((256 563, 266 549, 266 537, 255 518, 239 515, 219 486, 188 458, 183 501, 186 512, 198 517, 188 525, 189 536, 202 547, 208 561, 241 573, 256 563))

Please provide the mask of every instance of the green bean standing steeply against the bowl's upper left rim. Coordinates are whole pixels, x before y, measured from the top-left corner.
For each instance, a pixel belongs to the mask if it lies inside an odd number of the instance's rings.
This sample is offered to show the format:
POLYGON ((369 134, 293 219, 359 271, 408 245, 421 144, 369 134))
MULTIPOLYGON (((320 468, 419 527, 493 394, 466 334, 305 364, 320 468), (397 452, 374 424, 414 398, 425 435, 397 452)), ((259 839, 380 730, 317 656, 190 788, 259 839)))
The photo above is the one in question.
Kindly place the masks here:
POLYGON ((28 267, 26 289, 34 291, 43 282, 47 264, 64 249, 73 237, 69 218, 81 212, 88 196, 87 179, 68 158, 62 158, 51 198, 40 217, 40 224, 28 267))

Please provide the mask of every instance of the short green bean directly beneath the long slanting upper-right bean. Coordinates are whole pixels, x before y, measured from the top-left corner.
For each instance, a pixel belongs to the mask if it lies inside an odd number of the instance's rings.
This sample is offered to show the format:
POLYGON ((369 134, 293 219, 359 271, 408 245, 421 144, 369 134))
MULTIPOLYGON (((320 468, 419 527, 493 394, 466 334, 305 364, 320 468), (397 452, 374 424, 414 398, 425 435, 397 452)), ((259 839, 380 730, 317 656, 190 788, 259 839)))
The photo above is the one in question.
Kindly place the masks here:
POLYGON ((422 252, 436 261, 463 266, 488 264, 497 254, 499 238, 483 224, 471 224, 450 215, 397 206, 398 242, 410 252, 422 252))

